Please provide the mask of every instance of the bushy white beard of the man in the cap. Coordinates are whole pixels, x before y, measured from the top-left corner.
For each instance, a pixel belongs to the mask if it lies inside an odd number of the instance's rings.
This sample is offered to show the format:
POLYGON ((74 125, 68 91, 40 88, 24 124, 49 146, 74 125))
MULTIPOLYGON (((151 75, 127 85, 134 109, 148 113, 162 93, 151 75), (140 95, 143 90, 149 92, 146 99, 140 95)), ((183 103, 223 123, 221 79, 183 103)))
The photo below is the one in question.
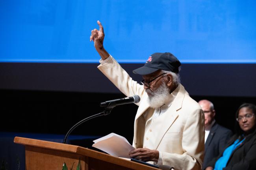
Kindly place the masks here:
POLYGON ((163 106, 170 94, 170 90, 164 81, 156 91, 151 91, 149 89, 146 89, 145 91, 151 94, 148 95, 148 103, 151 108, 160 108, 163 106))

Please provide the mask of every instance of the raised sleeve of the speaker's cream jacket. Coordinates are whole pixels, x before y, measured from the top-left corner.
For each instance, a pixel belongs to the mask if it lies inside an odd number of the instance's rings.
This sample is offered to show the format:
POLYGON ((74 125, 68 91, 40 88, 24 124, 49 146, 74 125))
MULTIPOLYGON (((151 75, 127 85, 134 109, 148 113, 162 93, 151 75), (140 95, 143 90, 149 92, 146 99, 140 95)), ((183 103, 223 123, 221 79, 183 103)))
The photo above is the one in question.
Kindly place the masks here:
MULTIPOLYGON (((128 75, 119 63, 110 55, 110 60, 100 64, 98 69, 127 97, 139 95, 142 97, 144 88, 128 75)), ((139 105, 139 103, 137 103, 139 105)))

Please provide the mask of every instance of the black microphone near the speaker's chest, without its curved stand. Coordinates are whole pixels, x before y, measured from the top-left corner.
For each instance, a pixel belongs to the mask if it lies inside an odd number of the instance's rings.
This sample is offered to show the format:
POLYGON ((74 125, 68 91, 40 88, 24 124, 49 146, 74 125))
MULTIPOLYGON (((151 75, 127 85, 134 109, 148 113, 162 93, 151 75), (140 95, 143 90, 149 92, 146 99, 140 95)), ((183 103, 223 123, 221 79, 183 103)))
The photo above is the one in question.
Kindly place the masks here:
POLYGON ((115 99, 115 100, 111 100, 111 101, 106 101, 106 102, 102 102, 100 103, 100 107, 115 107, 118 105, 122 105, 122 104, 129 104, 129 103, 138 103, 141 100, 141 98, 138 95, 134 95, 132 97, 125 97, 125 98, 121 98, 121 99, 115 99))

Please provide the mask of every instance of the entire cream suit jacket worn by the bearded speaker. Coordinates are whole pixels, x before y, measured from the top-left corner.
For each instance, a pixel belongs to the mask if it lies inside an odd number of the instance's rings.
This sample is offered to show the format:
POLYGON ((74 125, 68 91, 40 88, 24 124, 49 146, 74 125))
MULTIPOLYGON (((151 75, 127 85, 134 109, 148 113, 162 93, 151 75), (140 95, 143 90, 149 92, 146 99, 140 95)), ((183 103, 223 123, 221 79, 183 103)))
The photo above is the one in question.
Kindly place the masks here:
MULTIPOLYGON (((143 147, 145 123, 152 116, 142 85, 138 84, 121 68, 117 61, 111 59, 98 66, 117 88, 130 97, 139 95, 141 101, 134 122, 135 148, 143 147)), ((162 152, 163 165, 174 167, 175 170, 200 170, 204 157, 204 113, 180 84, 178 93, 165 114, 165 121, 158 129, 158 136, 153 148, 162 152)))

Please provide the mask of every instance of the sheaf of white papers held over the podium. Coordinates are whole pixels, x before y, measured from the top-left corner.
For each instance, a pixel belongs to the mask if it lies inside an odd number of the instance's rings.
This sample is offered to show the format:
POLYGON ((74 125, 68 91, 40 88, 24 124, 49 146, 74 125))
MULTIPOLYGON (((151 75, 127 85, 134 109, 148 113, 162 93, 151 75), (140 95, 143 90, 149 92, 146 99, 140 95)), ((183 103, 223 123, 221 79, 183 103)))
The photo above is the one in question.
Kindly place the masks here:
POLYGON ((116 157, 130 158, 128 153, 135 148, 124 137, 110 133, 93 141, 93 147, 116 157))

